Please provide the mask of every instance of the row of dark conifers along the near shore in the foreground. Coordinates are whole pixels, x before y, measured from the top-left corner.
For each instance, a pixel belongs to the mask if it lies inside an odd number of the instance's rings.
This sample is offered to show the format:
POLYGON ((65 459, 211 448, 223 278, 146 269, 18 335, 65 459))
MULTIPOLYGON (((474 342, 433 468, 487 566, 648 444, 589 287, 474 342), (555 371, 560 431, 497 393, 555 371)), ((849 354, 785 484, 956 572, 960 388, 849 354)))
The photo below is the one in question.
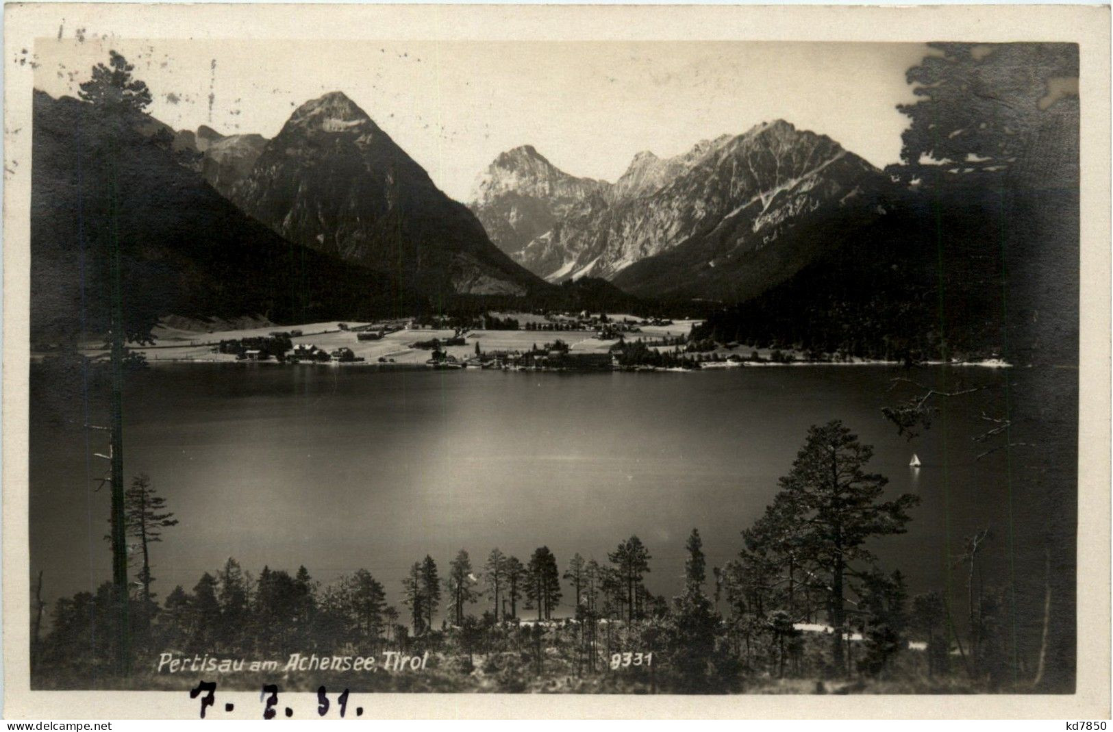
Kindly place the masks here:
MULTIPOLYGON (((401 578, 405 615, 365 568, 322 584, 304 566, 294 574, 264 566, 253 575, 234 558, 159 603, 147 544, 177 522, 150 479, 138 476, 128 493, 128 532, 141 548, 132 553, 136 665, 168 651, 283 657, 398 649, 459 654, 471 669, 476 650, 493 659, 525 649, 535 666, 523 673, 539 675, 544 647, 571 654, 579 673, 609 669, 615 652, 652 652, 652 689, 707 692, 737 691, 756 679, 893 677, 917 637, 927 645, 913 662, 920 675, 947 673, 955 646, 966 671, 992 674, 1002 664, 995 595, 979 597, 976 612, 972 604, 964 645, 943 595, 919 595, 909 607, 900 572, 883 571, 866 547, 873 537, 903 533, 918 503, 910 494, 885 495, 886 478, 866 472, 871 454, 838 421, 812 426, 780 491, 741 533, 737 557, 712 568, 710 594, 702 538, 692 530, 683 588, 671 601, 647 587, 652 557, 634 535, 605 562, 574 554, 563 573, 548 546, 525 563, 493 548, 481 567, 462 548, 443 576, 426 555, 401 578)), ((985 540, 975 537, 971 563, 985 540)), ((108 583, 58 600, 49 633, 32 631, 35 672, 108 674, 111 607, 108 583)))

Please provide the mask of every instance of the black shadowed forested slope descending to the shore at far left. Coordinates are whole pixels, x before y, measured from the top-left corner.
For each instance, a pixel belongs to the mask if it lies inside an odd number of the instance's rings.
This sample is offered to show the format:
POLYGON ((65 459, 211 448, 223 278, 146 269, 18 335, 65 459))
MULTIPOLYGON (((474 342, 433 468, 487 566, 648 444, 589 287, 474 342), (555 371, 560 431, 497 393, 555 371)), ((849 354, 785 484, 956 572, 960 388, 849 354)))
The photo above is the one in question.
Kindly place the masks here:
POLYGON ((85 102, 35 92, 32 338, 107 329, 114 208, 132 333, 167 314, 312 322, 424 307, 395 280, 248 218, 174 147, 149 117, 120 125, 85 102))

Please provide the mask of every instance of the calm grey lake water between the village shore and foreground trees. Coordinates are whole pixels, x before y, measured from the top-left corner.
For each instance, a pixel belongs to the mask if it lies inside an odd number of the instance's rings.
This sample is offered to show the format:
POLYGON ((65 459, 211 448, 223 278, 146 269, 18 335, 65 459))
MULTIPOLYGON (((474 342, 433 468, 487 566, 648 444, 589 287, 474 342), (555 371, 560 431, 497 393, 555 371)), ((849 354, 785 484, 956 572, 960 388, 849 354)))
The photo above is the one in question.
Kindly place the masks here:
MULTIPOLYGON (((91 491, 107 463, 89 457, 107 443, 91 433, 87 447, 78 394, 40 367, 31 376, 30 568, 45 571, 52 603, 110 577, 108 491, 91 491)), ((1054 572, 1073 587, 1076 372, 1066 369, 158 366, 129 375, 125 463, 128 476, 150 475, 180 520, 152 547, 160 596, 234 556, 253 574, 304 564, 326 583, 365 567, 397 603, 426 553, 444 567, 463 547, 477 568, 493 546, 525 561, 545 544, 563 571, 574 552, 605 561, 631 534, 652 555, 650 590, 673 595, 691 528, 710 565, 735 556, 808 426, 833 418, 874 445, 869 467, 890 495, 923 498, 907 534, 874 543, 912 593, 951 586, 962 600, 953 560, 986 526, 986 584, 1012 573, 1022 603, 1042 599, 1052 537, 1054 572), (940 399, 932 429, 909 443, 880 412, 910 395, 890 390, 904 376, 997 386, 940 399), (976 459, 988 447, 972 441, 982 414, 1004 414, 1006 399, 1026 415, 1014 441, 1040 447, 976 459)))

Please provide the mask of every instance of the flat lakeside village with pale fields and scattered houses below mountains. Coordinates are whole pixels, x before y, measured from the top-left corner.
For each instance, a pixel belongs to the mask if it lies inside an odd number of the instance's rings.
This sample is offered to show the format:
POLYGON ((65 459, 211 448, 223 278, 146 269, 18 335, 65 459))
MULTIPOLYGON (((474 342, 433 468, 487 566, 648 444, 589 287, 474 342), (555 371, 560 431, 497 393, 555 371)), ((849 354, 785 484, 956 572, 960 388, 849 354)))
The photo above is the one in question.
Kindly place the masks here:
POLYGON ((303 327, 244 334, 220 339, 208 353, 217 359, 230 357, 238 362, 424 364, 437 369, 504 370, 693 370, 798 359, 790 350, 745 353, 737 343, 693 340, 691 333, 698 325, 698 320, 588 311, 484 313, 473 318, 439 315, 370 324, 323 324, 313 332, 303 327))

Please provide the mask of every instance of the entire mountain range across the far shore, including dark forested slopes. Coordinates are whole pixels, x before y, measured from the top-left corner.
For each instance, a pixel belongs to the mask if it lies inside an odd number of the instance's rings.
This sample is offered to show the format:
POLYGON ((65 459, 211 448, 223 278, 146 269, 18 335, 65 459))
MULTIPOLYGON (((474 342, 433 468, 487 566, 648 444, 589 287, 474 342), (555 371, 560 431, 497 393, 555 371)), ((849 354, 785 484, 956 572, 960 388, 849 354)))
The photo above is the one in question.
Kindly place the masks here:
MULTIPOLYGON (((947 322, 965 324, 969 348, 999 340, 991 300, 1003 270, 982 243, 999 219, 986 211, 1001 202, 975 187, 939 218, 924 196, 784 120, 671 158, 639 152, 613 184, 521 146, 482 171, 469 206, 341 92, 305 102, 270 139, 175 131, 139 113, 109 120, 38 91, 33 125, 40 336, 104 332, 118 236, 136 332, 170 314, 305 323, 491 307, 707 314, 749 303, 708 333, 815 343, 839 332, 838 343, 873 343, 850 326, 876 322, 927 353, 959 343, 917 315, 938 301, 947 322), (944 229, 940 249, 932 233, 944 229), (952 280, 940 299, 938 283, 952 280)), ((1037 256, 1026 243, 1006 264, 1037 256)))

